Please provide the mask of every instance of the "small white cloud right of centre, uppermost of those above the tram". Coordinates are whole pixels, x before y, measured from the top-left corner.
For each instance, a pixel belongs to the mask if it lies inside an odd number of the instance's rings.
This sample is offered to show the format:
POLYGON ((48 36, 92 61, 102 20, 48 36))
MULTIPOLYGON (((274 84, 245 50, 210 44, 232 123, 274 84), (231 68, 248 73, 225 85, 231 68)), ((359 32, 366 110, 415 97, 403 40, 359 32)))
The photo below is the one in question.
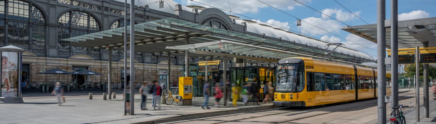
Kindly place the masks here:
MULTIPOLYGON (((348 11, 347 12, 346 11, 342 11, 342 9, 337 9, 337 8, 334 8, 334 9, 324 9, 322 11, 322 13, 327 15, 326 16, 324 14, 321 14, 321 17, 324 20, 330 19, 330 17, 334 17, 334 18, 336 18, 337 20, 340 20, 340 21, 348 21, 348 20, 357 19, 357 17, 354 16, 352 13, 350 13, 348 11), (333 15, 335 15, 335 16, 333 16, 333 15), (328 16, 330 16, 330 17, 328 17, 328 16)), ((357 11, 357 12, 353 12, 353 13, 356 14, 357 16, 359 16, 361 11, 357 11)))

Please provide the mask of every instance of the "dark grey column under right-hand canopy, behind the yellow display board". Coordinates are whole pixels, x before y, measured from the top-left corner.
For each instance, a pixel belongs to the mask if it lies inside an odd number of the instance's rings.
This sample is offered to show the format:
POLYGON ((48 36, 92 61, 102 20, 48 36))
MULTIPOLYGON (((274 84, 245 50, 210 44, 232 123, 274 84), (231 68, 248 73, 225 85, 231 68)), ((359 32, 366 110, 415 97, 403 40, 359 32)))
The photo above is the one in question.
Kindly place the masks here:
MULTIPOLYGON (((429 42, 423 42, 424 47, 429 47, 429 42)), ((429 117, 429 64, 423 65, 423 85, 424 88, 424 117, 429 117)))

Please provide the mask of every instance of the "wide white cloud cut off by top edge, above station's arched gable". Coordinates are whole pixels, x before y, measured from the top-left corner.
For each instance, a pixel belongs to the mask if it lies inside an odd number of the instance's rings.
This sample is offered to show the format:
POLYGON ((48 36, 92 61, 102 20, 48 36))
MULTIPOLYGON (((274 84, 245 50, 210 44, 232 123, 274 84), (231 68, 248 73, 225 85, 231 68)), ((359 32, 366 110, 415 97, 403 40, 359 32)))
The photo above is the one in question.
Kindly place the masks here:
MULTIPOLYGON (((257 0, 194 0, 196 2, 204 3, 210 6, 218 7, 225 10, 232 10, 234 13, 258 13, 260 8, 269 7, 266 4, 260 3, 257 0), (230 2, 230 7, 228 3, 230 2)), ((308 3, 311 0, 299 0, 301 3, 308 3)), ((193 2, 191 0, 182 0, 185 5, 199 5, 205 6, 193 2)), ((295 0, 262 0, 262 2, 276 7, 280 10, 293 10, 294 6, 301 6, 295 0)))

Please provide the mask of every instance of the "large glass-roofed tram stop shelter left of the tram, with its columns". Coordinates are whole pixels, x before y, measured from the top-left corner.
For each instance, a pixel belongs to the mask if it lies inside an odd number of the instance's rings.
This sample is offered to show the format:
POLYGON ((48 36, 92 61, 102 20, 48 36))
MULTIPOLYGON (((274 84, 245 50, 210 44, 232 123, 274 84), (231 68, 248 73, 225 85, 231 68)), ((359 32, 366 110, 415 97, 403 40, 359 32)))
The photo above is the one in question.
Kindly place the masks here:
MULTIPOLYGON (((243 27, 250 28, 246 23, 243 27)), ((126 26, 126 28, 129 33, 130 26, 126 26)), ((120 27, 61 40, 68 42, 68 45, 71 46, 109 49, 108 68, 110 72, 112 57, 110 51, 124 49, 124 35, 126 35, 124 31, 125 27, 120 27)), ((271 30, 267 31, 271 33, 271 30)), ((298 56, 324 60, 333 59, 354 65, 360 65, 358 63, 363 61, 374 61, 369 55, 345 47, 331 52, 330 58, 326 58, 324 57, 326 49, 323 47, 329 42, 296 33, 289 32, 288 35, 284 35, 284 33, 286 32, 280 30, 276 34, 281 35, 281 37, 272 37, 266 36, 265 33, 261 35, 259 33, 238 32, 176 18, 165 18, 135 24, 134 46, 135 52, 164 54, 168 57, 170 55, 185 56, 185 63, 188 63, 185 65, 189 65, 189 57, 213 58, 223 60, 223 62, 227 62, 229 59, 244 59, 244 62, 250 63, 277 62, 279 59, 298 56)), ((130 34, 127 34, 127 46, 132 45, 129 39, 130 34)), ((330 47, 327 51, 333 49, 330 47)), ((170 70, 169 62, 168 70, 170 70)), ((188 70, 185 69, 185 73, 188 73, 188 70)), ((109 73, 109 77, 110 75, 111 73, 109 73)), ((168 76, 170 75, 170 71, 168 71, 168 76)), ((167 81, 170 82, 169 79, 167 81)), ((108 82, 110 83, 110 80, 108 82)))

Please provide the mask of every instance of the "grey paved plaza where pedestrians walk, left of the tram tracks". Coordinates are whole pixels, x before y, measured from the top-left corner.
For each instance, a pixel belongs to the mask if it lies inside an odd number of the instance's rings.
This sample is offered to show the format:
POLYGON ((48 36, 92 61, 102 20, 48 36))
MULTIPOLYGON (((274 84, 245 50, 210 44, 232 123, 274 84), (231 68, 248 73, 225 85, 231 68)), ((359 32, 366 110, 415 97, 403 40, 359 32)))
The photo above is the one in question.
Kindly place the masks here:
MULTIPOLYGON (((243 106, 239 103, 237 107, 233 107, 228 101, 228 106, 222 107, 220 103, 221 107, 216 108, 215 98, 211 97, 209 100, 211 109, 202 110, 200 106, 204 99, 196 97, 193 99, 193 105, 162 104, 162 110, 140 111, 140 95, 136 95, 136 115, 125 116, 121 94, 118 94, 116 99, 106 101, 102 100, 101 93, 94 95, 92 100, 89 100, 88 95, 73 95, 66 96, 66 103, 62 106, 58 106, 54 96, 24 97, 24 103, 0 104, 0 124, 129 124, 179 115, 272 106, 272 104, 243 106)), ((147 97, 147 99, 146 106, 152 109, 152 98, 147 97)))

